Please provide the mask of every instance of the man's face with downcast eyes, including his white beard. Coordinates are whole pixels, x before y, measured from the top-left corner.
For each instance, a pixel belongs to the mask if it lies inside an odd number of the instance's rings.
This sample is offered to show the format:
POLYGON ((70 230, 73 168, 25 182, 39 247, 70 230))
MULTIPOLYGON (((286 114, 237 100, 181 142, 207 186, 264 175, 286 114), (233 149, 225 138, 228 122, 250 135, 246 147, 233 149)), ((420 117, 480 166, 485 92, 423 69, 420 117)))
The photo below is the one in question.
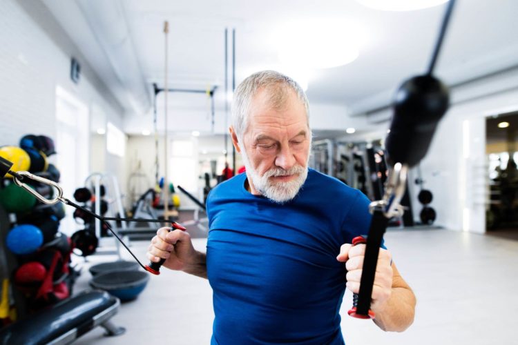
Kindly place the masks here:
POLYGON ((273 108, 268 92, 261 90, 250 111, 240 148, 251 193, 289 201, 307 177, 311 133, 305 106, 290 90, 285 105, 273 108))

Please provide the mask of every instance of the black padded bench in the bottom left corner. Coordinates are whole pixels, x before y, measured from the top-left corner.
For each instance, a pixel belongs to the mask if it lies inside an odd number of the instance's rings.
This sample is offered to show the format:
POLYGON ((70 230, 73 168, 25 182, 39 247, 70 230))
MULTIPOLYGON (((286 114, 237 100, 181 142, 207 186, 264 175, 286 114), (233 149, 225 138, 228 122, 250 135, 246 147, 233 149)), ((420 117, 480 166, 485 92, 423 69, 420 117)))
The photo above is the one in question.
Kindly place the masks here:
POLYGON ((70 344, 97 326, 120 335, 126 330, 110 321, 119 304, 105 291, 84 291, 1 329, 0 344, 70 344))

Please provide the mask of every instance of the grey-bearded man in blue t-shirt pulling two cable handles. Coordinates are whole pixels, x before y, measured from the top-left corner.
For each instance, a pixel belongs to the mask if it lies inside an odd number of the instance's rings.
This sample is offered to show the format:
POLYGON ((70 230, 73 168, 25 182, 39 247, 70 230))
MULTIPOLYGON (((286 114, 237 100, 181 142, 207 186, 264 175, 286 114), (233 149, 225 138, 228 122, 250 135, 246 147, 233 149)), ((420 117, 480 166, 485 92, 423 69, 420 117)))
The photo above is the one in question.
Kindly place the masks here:
MULTIPOLYGON (((180 230, 161 228, 153 237, 151 261, 166 258, 167 268, 209 279, 211 344, 344 344, 338 311, 346 286, 358 293, 365 253, 365 245, 350 243, 369 229, 370 201, 308 169, 308 108, 300 86, 278 72, 242 81, 230 132, 246 175, 218 185, 207 199, 207 254, 180 230)), ((381 249, 374 322, 403 331, 415 303, 381 249)))

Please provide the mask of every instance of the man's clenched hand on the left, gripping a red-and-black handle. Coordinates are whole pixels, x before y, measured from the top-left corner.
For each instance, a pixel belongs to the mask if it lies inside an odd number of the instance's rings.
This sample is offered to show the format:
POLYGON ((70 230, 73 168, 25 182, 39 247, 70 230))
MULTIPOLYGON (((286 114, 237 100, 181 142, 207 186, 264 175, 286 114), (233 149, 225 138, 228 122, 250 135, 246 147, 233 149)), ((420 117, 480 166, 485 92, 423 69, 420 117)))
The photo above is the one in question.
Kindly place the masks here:
POLYGON ((185 231, 171 228, 160 228, 151 239, 147 258, 151 262, 166 259, 162 266, 171 270, 189 271, 199 264, 201 253, 198 253, 191 242, 191 236, 185 231))

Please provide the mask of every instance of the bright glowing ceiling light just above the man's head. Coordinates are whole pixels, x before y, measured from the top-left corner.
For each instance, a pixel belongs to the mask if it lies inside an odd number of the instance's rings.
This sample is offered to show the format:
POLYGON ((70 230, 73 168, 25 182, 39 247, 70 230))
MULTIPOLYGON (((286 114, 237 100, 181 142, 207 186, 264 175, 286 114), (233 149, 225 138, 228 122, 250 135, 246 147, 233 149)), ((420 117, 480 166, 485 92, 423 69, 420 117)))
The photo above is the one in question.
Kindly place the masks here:
POLYGON ((289 23, 278 34, 279 59, 298 68, 333 68, 359 55, 358 28, 343 21, 308 19, 289 23))

